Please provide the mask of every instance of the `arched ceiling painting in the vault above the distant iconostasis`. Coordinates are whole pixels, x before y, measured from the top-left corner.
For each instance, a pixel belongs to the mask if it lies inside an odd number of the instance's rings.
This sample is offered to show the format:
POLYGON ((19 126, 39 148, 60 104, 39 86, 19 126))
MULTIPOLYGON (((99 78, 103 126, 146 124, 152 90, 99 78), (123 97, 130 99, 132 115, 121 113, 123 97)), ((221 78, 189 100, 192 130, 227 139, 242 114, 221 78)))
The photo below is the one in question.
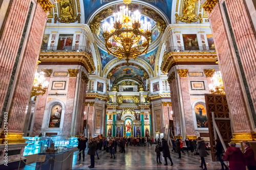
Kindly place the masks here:
POLYGON ((126 66, 125 64, 119 64, 110 71, 110 85, 113 86, 113 84, 116 84, 120 80, 132 78, 143 83, 145 86, 146 79, 148 79, 147 72, 137 64, 132 63, 130 66, 126 66))

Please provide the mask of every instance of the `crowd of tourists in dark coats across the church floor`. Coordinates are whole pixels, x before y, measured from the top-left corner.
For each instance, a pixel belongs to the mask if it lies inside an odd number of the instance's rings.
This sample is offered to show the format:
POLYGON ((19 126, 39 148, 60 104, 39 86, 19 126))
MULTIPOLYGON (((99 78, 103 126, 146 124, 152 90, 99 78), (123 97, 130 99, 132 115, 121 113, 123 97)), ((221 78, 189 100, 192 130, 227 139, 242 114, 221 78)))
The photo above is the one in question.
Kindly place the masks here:
MULTIPOLYGON (((81 153, 82 158, 84 161, 84 150, 86 149, 86 142, 88 141, 88 138, 86 137, 79 137, 78 138, 78 149, 79 149, 79 159, 81 160, 81 153)), ((142 138, 92 138, 88 142, 88 155, 90 155, 91 159, 91 165, 88 166, 89 168, 93 168, 95 166, 95 155, 98 156, 98 150, 106 151, 110 153, 111 157, 115 159, 117 150, 119 149, 119 152, 125 153, 125 148, 127 148, 129 145, 137 146, 152 146, 153 141, 156 143, 155 152, 156 152, 156 160, 157 164, 161 164, 161 152, 163 153, 163 157, 165 160, 164 165, 168 165, 167 159, 170 161, 170 165, 173 166, 174 162, 172 158, 170 157, 170 150, 168 146, 168 142, 165 138, 154 139, 150 137, 142 137, 142 138), (147 144, 148 143, 148 144, 147 144)), ((205 143, 205 140, 201 137, 198 137, 197 139, 190 140, 189 138, 185 140, 181 139, 171 139, 172 145, 173 145, 173 152, 178 154, 178 158, 181 158, 181 152, 185 154, 183 150, 183 144, 186 145, 186 151, 191 152, 194 155, 199 155, 201 159, 201 167, 204 170, 207 170, 205 157, 209 155, 207 153, 207 149, 209 149, 208 145, 205 143)), ((221 170, 246 170, 246 166, 248 167, 248 170, 255 170, 256 169, 256 161, 254 159, 254 152, 251 149, 251 145, 248 141, 243 141, 243 147, 245 149, 244 153, 236 147, 236 143, 230 142, 229 148, 227 148, 226 152, 224 153, 223 145, 220 142, 219 139, 216 139, 216 145, 212 146, 216 150, 216 157, 217 160, 221 163, 221 170), (224 161, 229 161, 229 167, 224 163, 224 161)))

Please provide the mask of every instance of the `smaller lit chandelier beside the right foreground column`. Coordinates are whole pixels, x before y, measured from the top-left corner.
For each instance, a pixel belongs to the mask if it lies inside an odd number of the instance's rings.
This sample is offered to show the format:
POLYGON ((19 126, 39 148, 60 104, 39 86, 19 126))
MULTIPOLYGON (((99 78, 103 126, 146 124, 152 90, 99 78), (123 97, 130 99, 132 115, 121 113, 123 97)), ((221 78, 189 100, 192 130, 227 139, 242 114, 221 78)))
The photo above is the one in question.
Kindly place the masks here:
POLYGON ((221 71, 216 71, 212 76, 211 84, 209 84, 209 91, 211 94, 225 94, 221 71))

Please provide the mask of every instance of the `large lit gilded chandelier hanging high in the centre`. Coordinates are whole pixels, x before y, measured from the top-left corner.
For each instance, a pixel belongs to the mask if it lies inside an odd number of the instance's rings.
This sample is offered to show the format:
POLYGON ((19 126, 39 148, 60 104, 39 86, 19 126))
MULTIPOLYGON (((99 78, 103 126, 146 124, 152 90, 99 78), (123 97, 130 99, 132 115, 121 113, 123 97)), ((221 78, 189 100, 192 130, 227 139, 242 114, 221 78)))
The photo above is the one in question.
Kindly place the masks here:
POLYGON ((151 23, 147 18, 141 17, 139 11, 133 12, 128 9, 131 0, 123 0, 126 7, 120 7, 110 23, 104 21, 103 34, 105 47, 109 54, 118 58, 136 58, 147 52, 151 41, 151 23))

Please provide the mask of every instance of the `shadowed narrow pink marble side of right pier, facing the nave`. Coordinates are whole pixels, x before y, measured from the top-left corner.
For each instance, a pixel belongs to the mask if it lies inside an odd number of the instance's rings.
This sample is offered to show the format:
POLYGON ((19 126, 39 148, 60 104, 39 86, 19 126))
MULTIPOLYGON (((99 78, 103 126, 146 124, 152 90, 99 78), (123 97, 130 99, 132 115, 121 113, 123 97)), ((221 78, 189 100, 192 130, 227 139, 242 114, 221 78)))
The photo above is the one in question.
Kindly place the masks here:
POLYGON ((173 120, 174 120, 174 135, 177 136, 181 134, 181 124, 180 124, 180 107, 178 101, 178 91, 176 85, 176 79, 170 83, 170 99, 172 101, 172 110, 173 110, 173 120))

